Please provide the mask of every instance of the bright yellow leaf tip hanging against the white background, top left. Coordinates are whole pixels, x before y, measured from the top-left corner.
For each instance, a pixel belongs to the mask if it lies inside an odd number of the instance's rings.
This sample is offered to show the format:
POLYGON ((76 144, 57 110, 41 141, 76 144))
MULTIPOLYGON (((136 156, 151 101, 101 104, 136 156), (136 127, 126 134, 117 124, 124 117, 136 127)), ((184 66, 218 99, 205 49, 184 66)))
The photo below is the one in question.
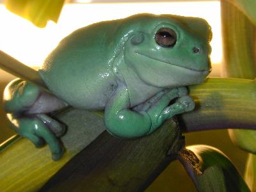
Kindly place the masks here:
POLYGON ((6 8, 39 28, 44 28, 49 20, 58 21, 65 0, 6 0, 6 8))

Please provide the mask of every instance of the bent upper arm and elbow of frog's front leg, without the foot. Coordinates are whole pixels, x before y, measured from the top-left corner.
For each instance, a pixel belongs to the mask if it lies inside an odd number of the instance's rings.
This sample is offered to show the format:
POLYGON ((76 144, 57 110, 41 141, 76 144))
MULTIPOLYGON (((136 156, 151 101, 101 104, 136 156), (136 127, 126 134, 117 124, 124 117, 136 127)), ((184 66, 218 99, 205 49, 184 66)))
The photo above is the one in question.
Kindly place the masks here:
POLYGON ((107 130, 119 137, 136 138, 150 131, 150 116, 130 109, 130 99, 126 86, 118 85, 105 107, 104 122, 107 130))

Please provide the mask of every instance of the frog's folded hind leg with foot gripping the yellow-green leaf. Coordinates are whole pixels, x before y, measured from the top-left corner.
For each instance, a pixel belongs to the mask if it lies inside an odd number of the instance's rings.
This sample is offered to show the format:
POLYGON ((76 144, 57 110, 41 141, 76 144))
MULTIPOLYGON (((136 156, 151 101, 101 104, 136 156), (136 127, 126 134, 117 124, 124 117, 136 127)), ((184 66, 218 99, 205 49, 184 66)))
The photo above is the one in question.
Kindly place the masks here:
POLYGON ((13 129, 36 147, 48 143, 54 160, 63 154, 57 137, 64 134, 65 127, 46 114, 65 106, 51 93, 21 79, 13 80, 4 90, 4 109, 13 129))

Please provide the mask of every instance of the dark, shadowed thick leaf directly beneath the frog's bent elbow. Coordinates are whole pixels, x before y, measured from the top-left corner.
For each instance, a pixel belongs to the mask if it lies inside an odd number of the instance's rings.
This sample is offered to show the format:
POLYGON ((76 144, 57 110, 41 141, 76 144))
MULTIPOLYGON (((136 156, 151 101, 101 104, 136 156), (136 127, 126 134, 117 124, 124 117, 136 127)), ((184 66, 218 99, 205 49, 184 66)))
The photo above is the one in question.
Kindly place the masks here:
POLYGON ((104 131, 40 191, 144 191, 183 147, 172 120, 153 134, 132 140, 104 131))

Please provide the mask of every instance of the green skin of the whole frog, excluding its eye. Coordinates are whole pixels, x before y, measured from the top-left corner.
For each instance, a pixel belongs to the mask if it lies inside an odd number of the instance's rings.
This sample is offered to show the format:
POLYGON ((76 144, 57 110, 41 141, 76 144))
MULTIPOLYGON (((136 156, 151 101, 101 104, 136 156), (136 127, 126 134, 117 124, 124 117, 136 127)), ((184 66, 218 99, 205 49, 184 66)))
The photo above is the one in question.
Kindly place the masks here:
POLYGON ((115 136, 145 136, 195 108, 185 86, 209 74, 210 41, 207 22, 192 17, 139 14, 92 24, 64 38, 39 70, 53 95, 16 79, 4 91, 4 108, 13 129, 36 147, 46 141, 54 160, 63 154, 65 128, 46 114, 67 105, 105 110, 115 136), (161 28, 175 31, 172 47, 157 42, 161 28))

